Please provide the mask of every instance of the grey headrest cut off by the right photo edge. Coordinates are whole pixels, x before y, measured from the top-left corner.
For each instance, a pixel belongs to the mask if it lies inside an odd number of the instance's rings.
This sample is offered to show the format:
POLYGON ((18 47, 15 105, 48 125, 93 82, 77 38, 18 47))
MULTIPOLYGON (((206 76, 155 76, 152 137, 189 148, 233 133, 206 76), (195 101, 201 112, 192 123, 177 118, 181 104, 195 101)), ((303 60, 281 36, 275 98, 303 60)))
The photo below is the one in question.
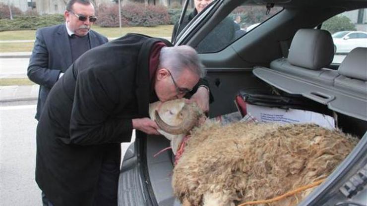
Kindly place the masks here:
POLYGON ((343 76, 367 81, 367 48, 357 47, 349 52, 338 72, 343 76))

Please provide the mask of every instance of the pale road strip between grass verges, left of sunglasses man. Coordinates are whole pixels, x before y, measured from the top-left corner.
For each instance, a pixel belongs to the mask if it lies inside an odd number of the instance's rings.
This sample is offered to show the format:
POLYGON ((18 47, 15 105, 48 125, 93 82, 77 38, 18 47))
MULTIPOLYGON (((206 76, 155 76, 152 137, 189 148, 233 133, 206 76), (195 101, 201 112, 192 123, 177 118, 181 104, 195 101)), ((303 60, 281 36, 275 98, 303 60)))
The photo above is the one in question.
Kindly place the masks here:
POLYGON ((0 58, 0 78, 25 78, 29 58, 0 58))

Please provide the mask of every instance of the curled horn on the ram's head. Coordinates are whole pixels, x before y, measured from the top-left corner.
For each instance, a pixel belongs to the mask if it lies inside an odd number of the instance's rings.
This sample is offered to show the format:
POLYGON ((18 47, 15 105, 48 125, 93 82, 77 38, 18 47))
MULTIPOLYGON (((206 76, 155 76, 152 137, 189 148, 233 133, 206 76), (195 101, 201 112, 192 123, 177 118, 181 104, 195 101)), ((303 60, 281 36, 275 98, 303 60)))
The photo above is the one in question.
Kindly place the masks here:
POLYGON ((173 135, 185 134, 195 126, 201 116, 201 113, 195 108, 197 108, 196 103, 186 103, 183 106, 181 110, 183 121, 179 125, 169 125, 164 122, 157 110, 155 110, 155 121, 158 127, 167 133, 173 135))

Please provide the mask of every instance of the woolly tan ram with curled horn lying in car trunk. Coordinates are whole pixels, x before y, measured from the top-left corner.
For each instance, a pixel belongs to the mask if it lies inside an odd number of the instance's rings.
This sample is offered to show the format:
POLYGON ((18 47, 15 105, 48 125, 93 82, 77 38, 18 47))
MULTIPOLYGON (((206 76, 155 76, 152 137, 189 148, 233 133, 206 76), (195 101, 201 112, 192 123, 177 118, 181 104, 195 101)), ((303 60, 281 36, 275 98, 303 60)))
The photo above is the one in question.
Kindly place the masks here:
MULTIPOLYGON (((159 112, 155 112, 157 106, 150 108, 151 117, 163 135, 180 144, 200 117, 197 108, 182 100, 158 104, 159 112)), ((208 121, 190 133, 172 178, 174 193, 183 206, 236 206, 277 197, 326 178, 358 142, 315 124, 238 122, 223 126, 208 121)), ((310 192, 294 194, 272 206, 297 205, 310 192)))

